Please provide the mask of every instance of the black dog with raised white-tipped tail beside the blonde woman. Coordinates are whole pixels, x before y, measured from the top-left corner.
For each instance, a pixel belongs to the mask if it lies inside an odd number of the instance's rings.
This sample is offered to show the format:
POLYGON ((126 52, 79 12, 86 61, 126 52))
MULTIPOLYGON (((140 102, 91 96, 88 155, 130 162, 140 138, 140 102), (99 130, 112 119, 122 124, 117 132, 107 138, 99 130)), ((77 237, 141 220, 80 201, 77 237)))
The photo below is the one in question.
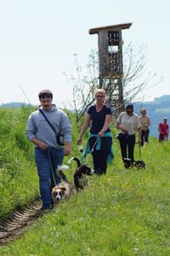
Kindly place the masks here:
POLYGON ((89 168, 86 164, 81 164, 80 160, 77 157, 71 157, 68 163, 72 161, 77 162, 77 170, 74 174, 74 184, 78 190, 82 190, 86 185, 88 185, 88 180, 86 179, 86 175, 90 176, 94 174, 94 170, 89 168))

